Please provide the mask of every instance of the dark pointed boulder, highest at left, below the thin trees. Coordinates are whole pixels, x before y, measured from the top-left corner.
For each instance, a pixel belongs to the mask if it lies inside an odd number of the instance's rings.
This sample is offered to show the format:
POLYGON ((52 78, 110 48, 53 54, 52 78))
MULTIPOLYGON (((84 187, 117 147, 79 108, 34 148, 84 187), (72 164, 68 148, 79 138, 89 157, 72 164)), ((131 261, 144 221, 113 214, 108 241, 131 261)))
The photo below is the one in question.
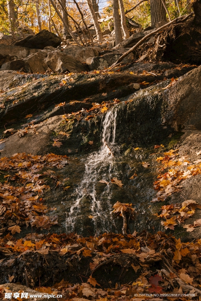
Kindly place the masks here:
POLYGON ((14 43, 15 46, 24 46, 28 48, 43 49, 46 46, 58 47, 61 44, 61 39, 50 33, 48 30, 43 29, 36 35, 27 36, 27 38, 14 43))

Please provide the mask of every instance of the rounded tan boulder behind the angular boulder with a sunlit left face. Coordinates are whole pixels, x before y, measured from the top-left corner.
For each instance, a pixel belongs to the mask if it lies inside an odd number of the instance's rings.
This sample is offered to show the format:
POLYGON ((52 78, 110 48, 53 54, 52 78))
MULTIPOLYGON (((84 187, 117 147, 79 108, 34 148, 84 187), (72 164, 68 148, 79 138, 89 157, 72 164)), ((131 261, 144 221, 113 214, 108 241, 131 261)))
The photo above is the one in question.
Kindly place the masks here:
POLYGON ((87 58, 95 56, 92 48, 80 45, 67 46, 63 53, 75 57, 81 63, 85 63, 87 58))

